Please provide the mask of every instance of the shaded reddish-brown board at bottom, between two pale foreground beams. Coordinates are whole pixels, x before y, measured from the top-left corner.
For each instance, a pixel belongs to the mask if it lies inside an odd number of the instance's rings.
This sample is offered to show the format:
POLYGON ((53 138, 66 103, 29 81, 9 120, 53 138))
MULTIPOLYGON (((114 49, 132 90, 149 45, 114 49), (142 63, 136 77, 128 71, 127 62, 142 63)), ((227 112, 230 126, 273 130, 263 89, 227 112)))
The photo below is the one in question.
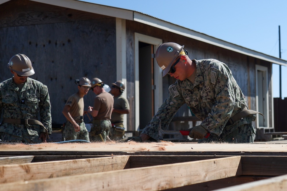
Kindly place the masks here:
POLYGON ((266 178, 272 178, 272 177, 270 176, 233 176, 229 178, 223 178, 223 179, 203 182, 199 184, 192 184, 192 185, 183 186, 179 188, 167 189, 164 191, 190 191, 190 190, 211 191, 211 190, 226 188, 229 186, 245 184, 248 182, 254 182, 257 180, 263 180, 266 178))

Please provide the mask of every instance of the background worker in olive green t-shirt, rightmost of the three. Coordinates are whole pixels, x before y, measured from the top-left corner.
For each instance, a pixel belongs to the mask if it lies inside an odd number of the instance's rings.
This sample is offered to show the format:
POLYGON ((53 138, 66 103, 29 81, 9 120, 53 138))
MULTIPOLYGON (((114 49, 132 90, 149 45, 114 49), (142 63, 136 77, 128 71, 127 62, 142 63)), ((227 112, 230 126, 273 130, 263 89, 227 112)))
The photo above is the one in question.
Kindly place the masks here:
POLYGON ((125 90, 125 83, 119 80, 112 84, 110 93, 114 95, 114 108, 111 116, 112 129, 110 138, 112 140, 121 140, 125 135, 123 121, 124 114, 129 114, 129 102, 122 95, 125 90))

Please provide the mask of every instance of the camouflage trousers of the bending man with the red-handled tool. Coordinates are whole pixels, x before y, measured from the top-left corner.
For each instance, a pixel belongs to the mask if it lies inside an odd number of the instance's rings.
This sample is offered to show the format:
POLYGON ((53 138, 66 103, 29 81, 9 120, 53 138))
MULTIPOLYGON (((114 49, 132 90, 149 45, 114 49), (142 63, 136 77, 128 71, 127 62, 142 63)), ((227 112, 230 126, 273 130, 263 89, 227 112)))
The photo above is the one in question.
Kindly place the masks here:
POLYGON ((251 123, 239 126, 234 132, 226 133, 223 129, 220 136, 210 133, 208 138, 199 139, 198 143, 223 142, 223 143, 253 143, 254 128, 251 123))

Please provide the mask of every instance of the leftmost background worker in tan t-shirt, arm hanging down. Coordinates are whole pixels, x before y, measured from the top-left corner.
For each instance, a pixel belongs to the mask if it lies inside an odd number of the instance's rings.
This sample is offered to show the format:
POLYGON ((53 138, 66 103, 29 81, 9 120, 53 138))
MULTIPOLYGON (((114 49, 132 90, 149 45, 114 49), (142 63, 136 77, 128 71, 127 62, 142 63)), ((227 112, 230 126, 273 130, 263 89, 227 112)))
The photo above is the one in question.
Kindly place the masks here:
POLYGON ((83 77, 75 80, 78 85, 78 92, 71 95, 63 109, 63 114, 67 119, 67 123, 63 129, 64 141, 69 140, 86 140, 89 139, 89 132, 84 123, 84 96, 89 92, 91 82, 88 78, 83 77))

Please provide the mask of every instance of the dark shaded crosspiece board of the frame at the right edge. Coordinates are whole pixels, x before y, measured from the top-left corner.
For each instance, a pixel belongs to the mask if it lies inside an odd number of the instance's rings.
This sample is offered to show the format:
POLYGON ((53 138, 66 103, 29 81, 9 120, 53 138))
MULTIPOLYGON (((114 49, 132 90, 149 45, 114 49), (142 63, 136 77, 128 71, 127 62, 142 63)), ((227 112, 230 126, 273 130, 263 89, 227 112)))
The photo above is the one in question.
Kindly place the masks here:
POLYGON ((286 156, 241 157, 242 174, 249 176, 280 176, 287 174, 286 156))

